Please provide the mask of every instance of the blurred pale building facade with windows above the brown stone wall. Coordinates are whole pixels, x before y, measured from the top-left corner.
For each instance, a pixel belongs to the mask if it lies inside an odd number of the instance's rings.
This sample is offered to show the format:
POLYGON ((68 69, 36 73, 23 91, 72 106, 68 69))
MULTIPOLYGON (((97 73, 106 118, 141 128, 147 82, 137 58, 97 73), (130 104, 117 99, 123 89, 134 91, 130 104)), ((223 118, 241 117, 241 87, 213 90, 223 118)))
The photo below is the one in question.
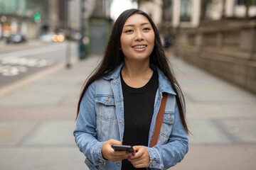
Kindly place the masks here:
POLYGON ((153 19, 156 25, 166 28, 197 28, 206 11, 207 20, 245 18, 256 16, 256 0, 251 0, 246 11, 245 0, 152 0, 142 2, 139 8, 153 19))

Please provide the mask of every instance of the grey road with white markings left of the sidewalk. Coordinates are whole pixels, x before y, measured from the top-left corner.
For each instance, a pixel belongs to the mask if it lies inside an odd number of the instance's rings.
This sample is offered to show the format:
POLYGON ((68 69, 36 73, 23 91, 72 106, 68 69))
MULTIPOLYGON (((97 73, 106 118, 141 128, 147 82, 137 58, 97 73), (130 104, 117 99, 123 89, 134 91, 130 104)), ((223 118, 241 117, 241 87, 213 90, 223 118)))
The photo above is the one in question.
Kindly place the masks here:
POLYGON ((0 48, 0 88, 14 84, 60 62, 65 62, 66 48, 70 56, 77 56, 75 43, 38 43, 38 45, 11 45, 0 48))

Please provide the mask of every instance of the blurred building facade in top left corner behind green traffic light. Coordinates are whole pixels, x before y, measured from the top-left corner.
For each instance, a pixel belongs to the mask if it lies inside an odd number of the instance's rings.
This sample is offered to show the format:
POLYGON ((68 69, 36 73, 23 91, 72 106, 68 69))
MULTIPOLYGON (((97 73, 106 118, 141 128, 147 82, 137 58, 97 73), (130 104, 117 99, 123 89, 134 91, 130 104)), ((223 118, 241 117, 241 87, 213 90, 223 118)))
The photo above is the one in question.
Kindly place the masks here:
POLYGON ((0 38, 21 33, 36 38, 48 18, 48 1, 0 0, 0 38))

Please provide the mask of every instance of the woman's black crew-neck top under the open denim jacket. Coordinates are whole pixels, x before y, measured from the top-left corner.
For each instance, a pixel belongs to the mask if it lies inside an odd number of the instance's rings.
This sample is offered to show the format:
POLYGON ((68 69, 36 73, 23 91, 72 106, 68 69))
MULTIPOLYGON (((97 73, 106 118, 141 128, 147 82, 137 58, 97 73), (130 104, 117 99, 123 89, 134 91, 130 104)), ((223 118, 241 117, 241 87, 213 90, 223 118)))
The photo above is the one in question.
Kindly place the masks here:
MULTIPOLYGON (((154 72, 149 82, 141 88, 132 88, 125 84, 122 74, 121 81, 124 96, 124 139, 122 144, 148 146, 149 128, 154 113, 154 99, 158 89, 158 74, 154 72)), ((126 169, 136 168, 127 159, 124 159, 122 170, 126 169)))

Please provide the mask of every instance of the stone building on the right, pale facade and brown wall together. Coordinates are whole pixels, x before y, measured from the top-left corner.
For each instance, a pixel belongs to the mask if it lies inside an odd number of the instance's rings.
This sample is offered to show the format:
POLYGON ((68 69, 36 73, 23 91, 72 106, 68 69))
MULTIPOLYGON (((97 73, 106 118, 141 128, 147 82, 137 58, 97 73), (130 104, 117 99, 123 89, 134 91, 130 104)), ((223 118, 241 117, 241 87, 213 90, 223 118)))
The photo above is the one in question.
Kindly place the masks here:
POLYGON ((244 0, 205 2, 152 0, 140 8, 158 24, 164 43, 172 39, 177 57, 256 93, 256 1, 248 8, 244 0))

